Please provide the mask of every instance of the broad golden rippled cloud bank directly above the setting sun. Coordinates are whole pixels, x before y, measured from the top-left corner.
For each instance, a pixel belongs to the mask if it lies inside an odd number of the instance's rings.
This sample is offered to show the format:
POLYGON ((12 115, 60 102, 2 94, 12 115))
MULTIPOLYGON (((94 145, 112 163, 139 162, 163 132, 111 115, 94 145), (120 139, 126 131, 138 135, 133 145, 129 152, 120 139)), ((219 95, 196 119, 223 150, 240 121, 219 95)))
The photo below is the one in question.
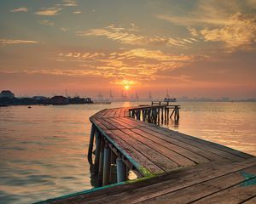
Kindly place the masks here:
POLYGON ((95 71, 94 75, 112 78, 112 82, 120 82, 127 78, 136 82, 154 80, 161 71, 173 71, 201 59, 206 59, 206 57, 168 54, 160 50, 145 48, 119 50, 108 54, 61 53, 56 58, 60 62, 76 63, 76 66, 84 67, 86 73, 95 71))

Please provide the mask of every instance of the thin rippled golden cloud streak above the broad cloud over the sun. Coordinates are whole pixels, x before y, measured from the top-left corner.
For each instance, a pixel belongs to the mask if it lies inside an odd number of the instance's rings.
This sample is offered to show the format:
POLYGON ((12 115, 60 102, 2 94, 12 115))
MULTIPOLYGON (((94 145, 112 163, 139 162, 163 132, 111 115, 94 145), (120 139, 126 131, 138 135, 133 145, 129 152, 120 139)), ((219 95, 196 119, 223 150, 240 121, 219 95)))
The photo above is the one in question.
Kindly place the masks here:
POLYGON ((110 25, 105 28, 77 31, 79 37, 107 37, 116 42, 130 45, 155 45, 155 46, 179 46, 184 47, 186 43, 192 43, 188 39, 172 38, 160 35, 144 36, 138 34, 138 28, 134 24, 125 29, 124 27, 110 25))

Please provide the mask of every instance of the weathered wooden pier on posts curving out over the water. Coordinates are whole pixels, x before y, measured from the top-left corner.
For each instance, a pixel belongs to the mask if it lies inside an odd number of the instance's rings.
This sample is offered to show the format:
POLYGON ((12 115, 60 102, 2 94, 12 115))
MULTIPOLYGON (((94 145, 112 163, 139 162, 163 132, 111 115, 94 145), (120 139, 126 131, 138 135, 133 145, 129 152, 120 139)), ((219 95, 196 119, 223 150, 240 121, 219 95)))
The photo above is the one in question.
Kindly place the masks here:
POLYGON ((91 116, 88 161, 103 187, 42 203, 254 203, 256 157, 157 125, 177 121, 179 109, 152 103, 91 116))

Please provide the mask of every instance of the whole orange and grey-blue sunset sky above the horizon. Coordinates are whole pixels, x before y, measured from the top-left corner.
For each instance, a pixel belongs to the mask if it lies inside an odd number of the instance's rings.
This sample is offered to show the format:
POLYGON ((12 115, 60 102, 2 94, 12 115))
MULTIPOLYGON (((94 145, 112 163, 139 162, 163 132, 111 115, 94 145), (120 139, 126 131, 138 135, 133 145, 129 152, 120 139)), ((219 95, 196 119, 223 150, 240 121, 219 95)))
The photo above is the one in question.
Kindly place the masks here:
POLYGON ((256 98, 256 1, 0 0, 0 89, 256 98))

